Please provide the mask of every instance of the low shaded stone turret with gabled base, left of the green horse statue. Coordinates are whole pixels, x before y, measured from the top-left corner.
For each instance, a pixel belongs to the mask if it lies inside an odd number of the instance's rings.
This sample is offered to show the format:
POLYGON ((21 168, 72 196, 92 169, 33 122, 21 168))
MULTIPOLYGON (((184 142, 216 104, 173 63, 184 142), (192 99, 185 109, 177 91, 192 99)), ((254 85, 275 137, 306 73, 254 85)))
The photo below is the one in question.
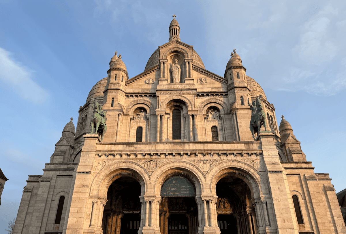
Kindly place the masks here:
POLYGON ((72 120, 73 118, 65 125, 62 136, 55 144, 55 150, 51 156, 50 163, 67 163, 69 161, 75 135, 75 128, 72 120))

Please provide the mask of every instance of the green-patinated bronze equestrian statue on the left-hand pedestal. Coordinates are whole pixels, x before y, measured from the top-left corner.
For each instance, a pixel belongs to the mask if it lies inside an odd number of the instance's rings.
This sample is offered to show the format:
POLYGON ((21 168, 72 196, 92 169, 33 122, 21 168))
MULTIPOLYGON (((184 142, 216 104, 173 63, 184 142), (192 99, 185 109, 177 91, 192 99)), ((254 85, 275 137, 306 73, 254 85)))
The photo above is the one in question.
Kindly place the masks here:
POLYGON ((94 128, 95 133, 99 134, 101 137, 101 142, 103 140, 103 136, 107 131, 107 125, 106 125, 106 110, 102 110, 102 106, 99 105, 97 101, 94 103, 94 98, 92 98, 92 108, 94 109, 94 116, 91 119, 91 134, 93 134, 94 128))

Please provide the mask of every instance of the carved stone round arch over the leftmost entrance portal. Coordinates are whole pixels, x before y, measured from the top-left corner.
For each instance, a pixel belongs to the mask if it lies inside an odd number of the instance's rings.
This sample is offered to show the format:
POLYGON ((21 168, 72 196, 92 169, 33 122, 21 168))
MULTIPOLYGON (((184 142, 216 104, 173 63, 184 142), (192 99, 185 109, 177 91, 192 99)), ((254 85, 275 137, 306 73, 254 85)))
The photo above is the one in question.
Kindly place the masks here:
POLYGON ((91 183, 90 196, 107 197, 108 187, 121 176, 137 179, 141 187, 141 195, 147 191, 150 175, 143 166, 136 162, 122 161, 103 167, 91 183))

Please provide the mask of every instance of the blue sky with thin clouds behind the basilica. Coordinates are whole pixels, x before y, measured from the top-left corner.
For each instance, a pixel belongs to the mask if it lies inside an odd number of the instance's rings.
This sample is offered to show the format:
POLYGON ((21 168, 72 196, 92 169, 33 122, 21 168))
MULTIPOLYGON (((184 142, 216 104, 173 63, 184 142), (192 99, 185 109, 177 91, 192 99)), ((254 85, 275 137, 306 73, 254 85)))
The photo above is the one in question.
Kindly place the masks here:
MULTIPOLYGON (((344 182, 345 1, 0 0, 3 102, 0 230, 16 217, 28 175, 44 163, 115 50, 129 77, 168 42, 172 15, 181 41, 223 76, 233 48, 246 74, 289 121, 315 173, 344 182), (7 98, 7 99, 6 99, 7 98)), ((74 123, 76 123, 74 121, 74 123)), ((4 231, 0 231, 3 233, 4 231)))

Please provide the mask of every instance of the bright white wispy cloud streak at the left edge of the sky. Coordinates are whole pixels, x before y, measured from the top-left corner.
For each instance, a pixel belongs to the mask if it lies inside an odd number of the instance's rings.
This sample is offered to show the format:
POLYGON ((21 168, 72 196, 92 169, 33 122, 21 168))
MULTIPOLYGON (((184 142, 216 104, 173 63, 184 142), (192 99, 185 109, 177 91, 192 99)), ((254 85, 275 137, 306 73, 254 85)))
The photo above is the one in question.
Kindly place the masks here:
POLYGON ((48 94, 31 79, 33 73, 33 70, 11 58, 9 51, 0 48, 0 80, 13 86, 13 90, 22 98, 33 103, 42 103, 48 94))

